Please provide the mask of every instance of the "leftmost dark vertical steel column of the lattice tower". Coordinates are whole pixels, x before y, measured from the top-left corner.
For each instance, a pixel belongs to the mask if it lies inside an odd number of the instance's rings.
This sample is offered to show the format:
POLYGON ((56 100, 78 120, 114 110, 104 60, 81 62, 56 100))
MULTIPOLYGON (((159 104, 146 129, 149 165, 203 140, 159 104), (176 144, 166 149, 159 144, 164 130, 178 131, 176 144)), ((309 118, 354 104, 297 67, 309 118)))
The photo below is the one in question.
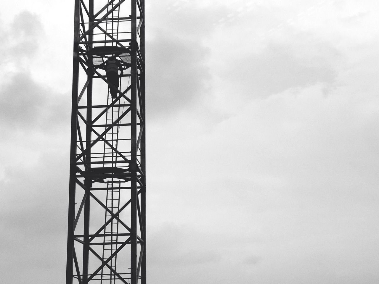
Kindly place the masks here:
POLYGON ((75 192, 76 192, 76 136, 78 123, 77 94, 79 89, 79 18, 80 2, 75 0, 74 12, 74 56, 72 62, 72 101, 71 101, 71 145, 70 145, 70 181, 69 181, 69 210, 67 228, 67 260, 66 284, 72 284, 74 269, 74 221, 75 221, 75 192))

